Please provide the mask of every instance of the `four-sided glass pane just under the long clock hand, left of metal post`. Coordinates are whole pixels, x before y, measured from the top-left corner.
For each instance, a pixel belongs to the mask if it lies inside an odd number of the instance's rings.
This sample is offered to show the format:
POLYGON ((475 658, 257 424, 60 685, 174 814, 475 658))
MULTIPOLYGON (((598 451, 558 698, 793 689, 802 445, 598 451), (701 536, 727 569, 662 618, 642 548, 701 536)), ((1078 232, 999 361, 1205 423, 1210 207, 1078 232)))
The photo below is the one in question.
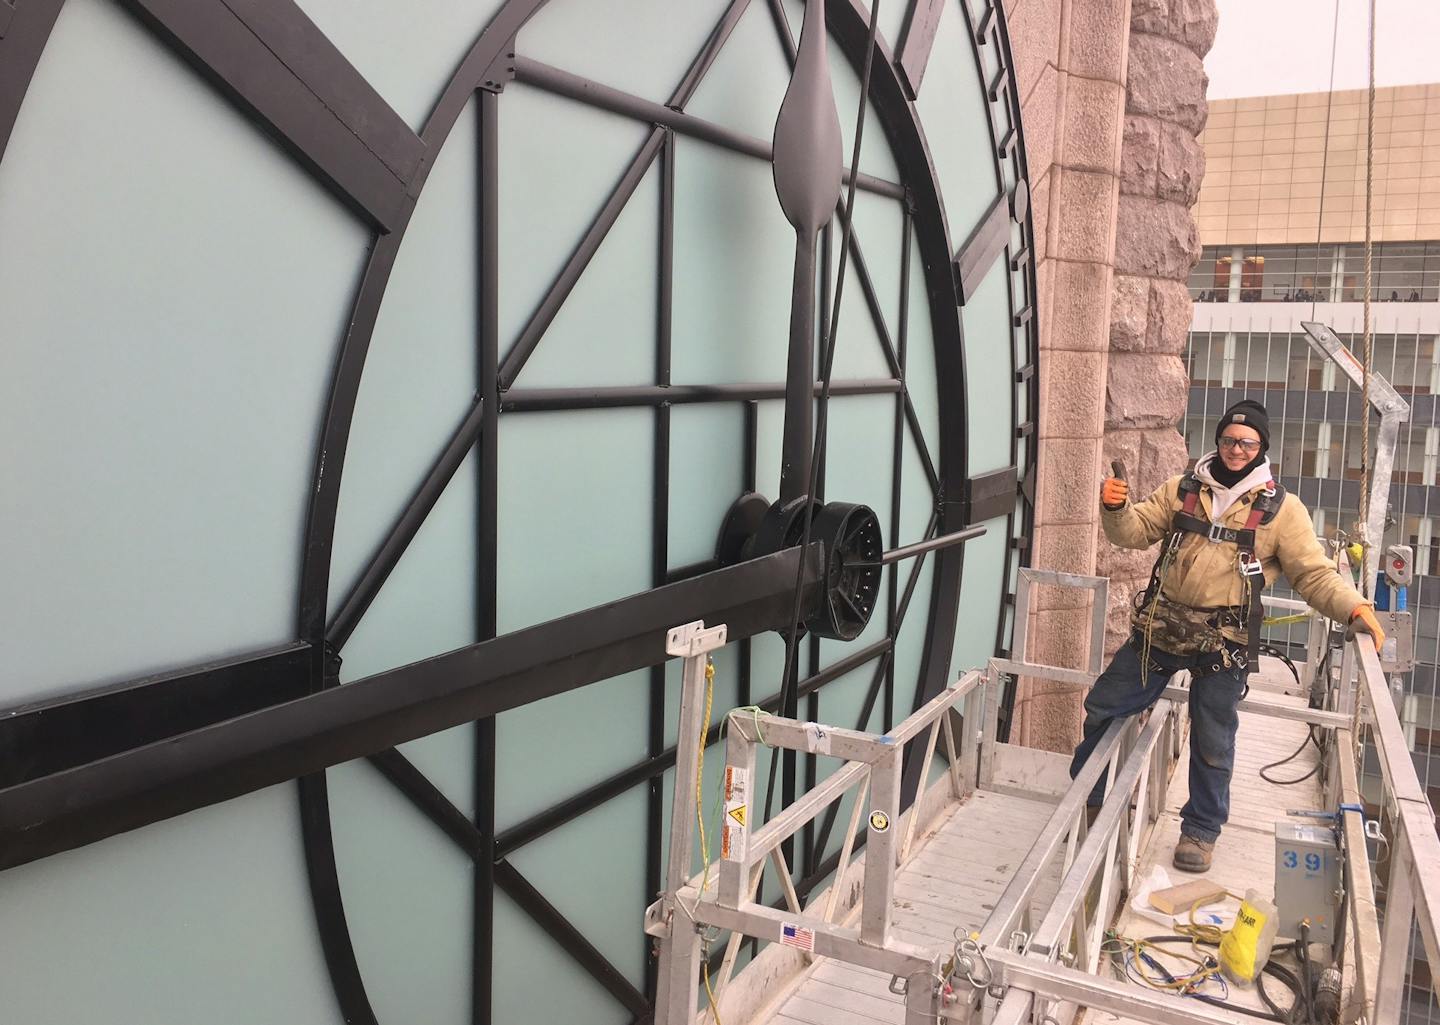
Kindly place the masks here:
MULTIPOLYGON (((678 687, 674 692, 678 703, 678 687)), ((644 762, 648 723, 648 669, 503 713, 495 727, 495 826, 508 829, 644 762)), ((635 848, 635 857, 642 855, 644 842, 635 848)))

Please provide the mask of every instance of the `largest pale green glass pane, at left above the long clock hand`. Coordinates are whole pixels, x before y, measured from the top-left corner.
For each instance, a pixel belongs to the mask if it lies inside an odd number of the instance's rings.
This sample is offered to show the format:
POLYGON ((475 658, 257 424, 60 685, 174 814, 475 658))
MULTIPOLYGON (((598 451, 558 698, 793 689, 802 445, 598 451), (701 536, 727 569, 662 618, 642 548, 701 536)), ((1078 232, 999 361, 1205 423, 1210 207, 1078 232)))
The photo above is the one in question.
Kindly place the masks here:
POLYGON ((65 4, 0 164, 0 705, 294 636, 367 240, 130 14, 65 4))

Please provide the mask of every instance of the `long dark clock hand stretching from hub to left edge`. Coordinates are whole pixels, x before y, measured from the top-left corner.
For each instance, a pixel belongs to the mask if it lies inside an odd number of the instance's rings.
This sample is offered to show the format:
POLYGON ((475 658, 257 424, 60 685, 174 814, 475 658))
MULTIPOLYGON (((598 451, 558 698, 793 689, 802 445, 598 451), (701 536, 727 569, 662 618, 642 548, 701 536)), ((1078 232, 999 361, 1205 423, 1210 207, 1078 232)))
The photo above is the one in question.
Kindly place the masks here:
POLYGON ((272 708, 0 790, 0 868, 104 839, 287 779, 665 659, 675 620, 732 636, 815 599, 822 547, 799 548, 577 612, 272 708))

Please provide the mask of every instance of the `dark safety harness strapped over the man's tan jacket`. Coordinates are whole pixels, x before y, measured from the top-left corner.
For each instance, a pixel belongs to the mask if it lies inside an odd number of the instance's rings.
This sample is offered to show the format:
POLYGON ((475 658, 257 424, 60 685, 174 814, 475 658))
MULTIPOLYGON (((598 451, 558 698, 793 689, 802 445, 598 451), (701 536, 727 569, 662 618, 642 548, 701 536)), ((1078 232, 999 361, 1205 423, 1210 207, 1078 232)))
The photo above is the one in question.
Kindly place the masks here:
POLYGON ((1212 612, 1212 622, 1217 629, 1227 625, 1244 626, 1247 644, 1243 652, 1224 646, 1212 655, 1202 655, 1194 669, 1194 675, 1195 678, 1208 677, 1233 668, 1237 664, 1240 669, 1248 674, 1251 667, 1257 665, 1260 656, 1260 625, 1264 620, 1264 612, 1260 608, 1260 592, 1264 590, 1264 567, 1260 564, 1259 556, 1256 556, 1256 530, 1261 524, 1270 523, 1276 512, 1280 511, 1280 504, 1284 501, 1284 488, 1270 481, 1266 489, 1256 495, 1254 502, 1250 505, 1250 515, 1246 518, 1246 525, 1237 530, 1218 523, 1210 523, 1204 517, 1197 515, 1201 487, 1201 481, 1195 477, 1194 471, 1181 478, 1181 508, 1171 518, 1169 534, 1165 537, 1165 544, 1161 546, 1159 559, 1155 560, 1155 566, 1151 569, 1149 586, 1138 596, 1136 606, 1152 602, 1159 593, 1161 567, 1179 550, 1185 534, 1200 534, 1211 544, 1234 544, 1237 548, 1236 566, 1240 576, 1248 584, 1248 608, 1218 606, 1215 609, 1198 609, 1198 612, 1212 612))

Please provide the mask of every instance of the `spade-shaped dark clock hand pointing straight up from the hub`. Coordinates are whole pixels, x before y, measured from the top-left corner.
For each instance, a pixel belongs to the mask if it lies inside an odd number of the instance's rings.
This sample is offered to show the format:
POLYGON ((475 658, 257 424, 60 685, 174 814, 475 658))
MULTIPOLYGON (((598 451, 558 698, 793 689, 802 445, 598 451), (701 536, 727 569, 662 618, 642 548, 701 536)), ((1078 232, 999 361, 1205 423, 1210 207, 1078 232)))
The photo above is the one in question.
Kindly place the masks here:
POLYGON ((775 193, 795 226, 791 340, 785 371, 780 502, 809 488, 815 389, 815 250, 819 229, 840 202, 840 114, 829 81, 824 0, 808 0, 795 71, 775 118, 775 193))

